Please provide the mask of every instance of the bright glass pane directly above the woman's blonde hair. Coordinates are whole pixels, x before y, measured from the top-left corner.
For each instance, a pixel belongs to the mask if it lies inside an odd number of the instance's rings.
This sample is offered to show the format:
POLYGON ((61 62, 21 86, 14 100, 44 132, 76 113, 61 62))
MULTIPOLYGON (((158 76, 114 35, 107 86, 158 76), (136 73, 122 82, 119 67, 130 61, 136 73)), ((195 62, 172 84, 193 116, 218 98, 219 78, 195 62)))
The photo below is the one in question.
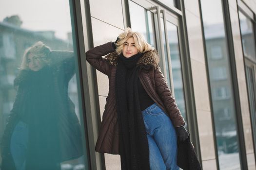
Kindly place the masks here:
POLYGON ((131 0, 129 0, 129 10, 132 30, 143 34, 147 42, 156 48, 153 13, 131 0))

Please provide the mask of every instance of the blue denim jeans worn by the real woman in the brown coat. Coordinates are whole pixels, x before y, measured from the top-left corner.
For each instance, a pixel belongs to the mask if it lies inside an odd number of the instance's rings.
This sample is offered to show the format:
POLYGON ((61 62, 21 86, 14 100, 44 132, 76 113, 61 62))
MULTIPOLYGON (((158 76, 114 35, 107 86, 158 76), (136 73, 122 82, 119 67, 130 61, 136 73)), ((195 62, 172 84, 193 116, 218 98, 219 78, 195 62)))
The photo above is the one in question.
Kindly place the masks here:
POLYGON ((170 118, 156 104, 142 111, 149 144, 150 170, 179 170, 177 134, 170 118))

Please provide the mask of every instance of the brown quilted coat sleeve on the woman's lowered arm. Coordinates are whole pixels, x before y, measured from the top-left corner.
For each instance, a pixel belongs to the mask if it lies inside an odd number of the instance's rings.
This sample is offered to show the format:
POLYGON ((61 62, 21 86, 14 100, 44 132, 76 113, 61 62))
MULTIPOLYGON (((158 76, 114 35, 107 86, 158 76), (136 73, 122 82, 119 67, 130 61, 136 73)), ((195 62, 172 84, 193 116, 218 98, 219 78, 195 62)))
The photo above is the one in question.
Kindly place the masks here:
POLYGON ((161 98, 165 108, 167 109, 168 115, 171 118, 175 127, 184 126, 185 122, 179 108, 175 102, 175 98, 172 95, 172 92, 161 72, 160 68, 158 67, 155 70, 155 84, 156 84, 156 91, 161 98))

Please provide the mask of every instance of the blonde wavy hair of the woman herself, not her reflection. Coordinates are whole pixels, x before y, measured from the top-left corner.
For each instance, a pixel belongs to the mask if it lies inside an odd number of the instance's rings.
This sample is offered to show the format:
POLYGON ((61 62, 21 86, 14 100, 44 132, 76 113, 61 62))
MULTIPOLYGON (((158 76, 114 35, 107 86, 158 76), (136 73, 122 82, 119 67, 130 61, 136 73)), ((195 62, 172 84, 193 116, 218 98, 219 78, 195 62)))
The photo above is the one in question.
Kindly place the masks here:
POLYGON ((147 43, 147 41, 145 40, 142 34, 138 32, 133 32, 131 28, 128 27, 124 30, 123 33, 119 34, 118 36, 119 40, 118 40, 118 43, 116 44, 117 45, 116 51, 118 55, 121 54, 124 47, 124 43, 127 41, 127 39, 131 37, 133 37, 135 47, 138 49, 139 53, 154 50, 154 48, 149 43, 147 43))

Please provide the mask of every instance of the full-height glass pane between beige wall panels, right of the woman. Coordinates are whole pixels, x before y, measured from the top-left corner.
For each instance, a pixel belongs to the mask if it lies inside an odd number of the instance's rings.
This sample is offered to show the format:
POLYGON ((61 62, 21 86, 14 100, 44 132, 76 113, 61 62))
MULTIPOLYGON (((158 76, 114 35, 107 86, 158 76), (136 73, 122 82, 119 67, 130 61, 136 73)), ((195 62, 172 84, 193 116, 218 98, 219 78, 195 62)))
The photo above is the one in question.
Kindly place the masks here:
POLYGON ((220 170, 240 170, 232 75, 221 0, 200 0, 220 170), (232 162, 232 163, 230 163, 232 162))

